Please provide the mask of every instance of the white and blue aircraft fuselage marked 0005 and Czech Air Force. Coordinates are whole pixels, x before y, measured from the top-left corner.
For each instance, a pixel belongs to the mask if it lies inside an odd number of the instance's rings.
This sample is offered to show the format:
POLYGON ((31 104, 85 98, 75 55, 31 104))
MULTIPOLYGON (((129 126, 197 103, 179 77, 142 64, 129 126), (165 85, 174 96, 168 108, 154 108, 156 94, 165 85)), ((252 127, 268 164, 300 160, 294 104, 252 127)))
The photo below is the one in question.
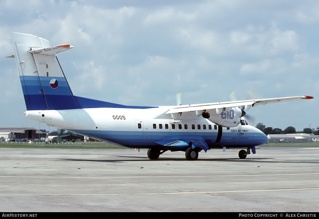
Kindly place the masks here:
POLYGON ((163 150, 185 151, 189 147, 182 144, 159 144, 159 141, 174 138, 186 142, 204 140, 209 148, 257 146, 268 140, 263 132, 245 124, 244 120, 232 128, 218 126, 192 112, 188 115, 184 113, 184 118, 180 115, 178 120, 174 120, 170 114, 165 114, 171 108, 28 110, 25 115, 42 123, 131 148, 158 146, 163 150))

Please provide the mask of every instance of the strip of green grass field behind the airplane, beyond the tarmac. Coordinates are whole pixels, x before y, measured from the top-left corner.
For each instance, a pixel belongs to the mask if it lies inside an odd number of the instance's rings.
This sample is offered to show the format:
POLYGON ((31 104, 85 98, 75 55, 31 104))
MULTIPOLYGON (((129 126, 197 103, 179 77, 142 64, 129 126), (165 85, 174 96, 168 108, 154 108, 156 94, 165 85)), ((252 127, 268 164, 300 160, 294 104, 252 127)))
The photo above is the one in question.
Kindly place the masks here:
MULTIPOLYGON (((263 146, 271 146, 271 147, 309 147, 315 146, 318 147, 319 143, 295 143, 295 144, 265 144, 259 146, 259 148, 263 146)), ((60 144, 43 144, 43 142, 33 142, 29 144, 28 142, 1 142, 0 148, 66 148, 66 149, 128 149, 127 147, 122 146, 113 146, 104 142, 66 142, 60 144), (90 145, 90 146, 88 146, 90 145)))

